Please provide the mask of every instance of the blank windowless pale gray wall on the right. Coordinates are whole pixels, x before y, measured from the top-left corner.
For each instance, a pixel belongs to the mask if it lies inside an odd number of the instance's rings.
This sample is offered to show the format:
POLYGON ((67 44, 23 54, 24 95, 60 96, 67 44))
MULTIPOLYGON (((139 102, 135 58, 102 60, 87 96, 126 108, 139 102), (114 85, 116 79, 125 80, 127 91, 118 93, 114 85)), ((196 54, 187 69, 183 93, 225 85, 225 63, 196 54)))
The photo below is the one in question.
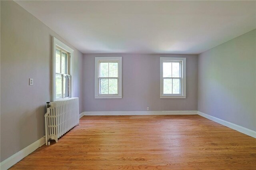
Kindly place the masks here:
POLYGON ((256 130, 256 30, 198 56, 198 111, 256 130))

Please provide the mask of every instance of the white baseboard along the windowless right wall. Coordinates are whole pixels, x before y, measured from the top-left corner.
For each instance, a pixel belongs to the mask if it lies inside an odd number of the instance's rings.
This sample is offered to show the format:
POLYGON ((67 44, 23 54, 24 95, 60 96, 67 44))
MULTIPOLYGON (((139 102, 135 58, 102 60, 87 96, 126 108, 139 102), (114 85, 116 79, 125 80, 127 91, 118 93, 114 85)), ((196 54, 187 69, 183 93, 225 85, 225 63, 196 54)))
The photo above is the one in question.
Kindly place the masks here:
POLYGON ((238 132, 247 134, 248 136, 252 136, 253 138, 256 138, 256 131, 254 131, 254 130, 242 127, 240 125, 236 125, 236 124, 228 122, 228 121, 224 121, 222 119, 219 119, 217 117, 213 117, 211 115, 207 115, 207 114, 202 113, 200 111, 198 111, 198 115, 200 115, 202 117, 205 117, 206 119, 210 119, 211 121, 214 121, 214 122, 219 123, 221 125, 224 125, 226 127, 232 128, 232 129, 234 129, 238 132))

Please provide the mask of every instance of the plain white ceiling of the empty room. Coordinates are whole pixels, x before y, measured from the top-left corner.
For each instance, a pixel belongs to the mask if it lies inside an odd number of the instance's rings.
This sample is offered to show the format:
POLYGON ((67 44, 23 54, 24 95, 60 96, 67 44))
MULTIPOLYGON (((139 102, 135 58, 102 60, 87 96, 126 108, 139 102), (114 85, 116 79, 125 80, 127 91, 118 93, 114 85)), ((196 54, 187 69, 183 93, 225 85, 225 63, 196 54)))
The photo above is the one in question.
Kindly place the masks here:
POLYGON ((256 28, 256 1, 16 1, 82 53, 198 54, 256 28))

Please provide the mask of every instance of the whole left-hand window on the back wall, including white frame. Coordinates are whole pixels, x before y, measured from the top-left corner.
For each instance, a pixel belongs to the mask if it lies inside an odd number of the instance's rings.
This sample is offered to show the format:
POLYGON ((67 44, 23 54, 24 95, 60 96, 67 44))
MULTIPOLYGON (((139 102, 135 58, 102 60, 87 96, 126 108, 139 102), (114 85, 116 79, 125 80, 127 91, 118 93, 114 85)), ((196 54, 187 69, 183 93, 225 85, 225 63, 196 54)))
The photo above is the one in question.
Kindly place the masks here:
POLYGON ((95 99, 122 98, 122 57, 95 57, 95 99))

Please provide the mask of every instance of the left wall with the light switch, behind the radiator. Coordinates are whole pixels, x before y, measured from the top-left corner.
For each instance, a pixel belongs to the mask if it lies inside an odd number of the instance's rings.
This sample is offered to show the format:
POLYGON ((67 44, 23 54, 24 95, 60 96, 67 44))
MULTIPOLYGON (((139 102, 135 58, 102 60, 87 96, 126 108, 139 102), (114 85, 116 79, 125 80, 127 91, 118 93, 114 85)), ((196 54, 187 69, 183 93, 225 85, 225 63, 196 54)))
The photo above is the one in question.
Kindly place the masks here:
MULTIPOLYGON (((51 96, 52 36, 64 41, 14 1, 1 3, 1 162, 44 135, 51 96), (34 78, 34 86, 28 79, 34 78)), ((74 95, 82 97, 82 53, 75 49, 74 95)))

